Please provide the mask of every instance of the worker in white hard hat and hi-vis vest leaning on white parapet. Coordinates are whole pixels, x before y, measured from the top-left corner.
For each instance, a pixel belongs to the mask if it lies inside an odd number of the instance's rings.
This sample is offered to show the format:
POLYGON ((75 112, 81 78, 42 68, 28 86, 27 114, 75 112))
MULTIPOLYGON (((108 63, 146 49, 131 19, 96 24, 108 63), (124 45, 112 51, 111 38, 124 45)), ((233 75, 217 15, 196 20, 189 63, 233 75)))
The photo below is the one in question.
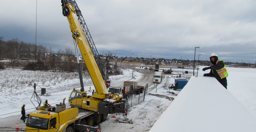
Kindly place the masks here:
POLYGON ((227 89, 227 76, 228 72, 225 67, 223 60, 218 60, 218 56, 215 53, 212 53, 210 55, 210 61, 213 64, 213 66, 205 67, 203 68, 203 71, 206 71, 208 69, 211 69, 210 73, 204 74, 204 76, 213 76, 215 77, 220 84, 222 84, 227 89))

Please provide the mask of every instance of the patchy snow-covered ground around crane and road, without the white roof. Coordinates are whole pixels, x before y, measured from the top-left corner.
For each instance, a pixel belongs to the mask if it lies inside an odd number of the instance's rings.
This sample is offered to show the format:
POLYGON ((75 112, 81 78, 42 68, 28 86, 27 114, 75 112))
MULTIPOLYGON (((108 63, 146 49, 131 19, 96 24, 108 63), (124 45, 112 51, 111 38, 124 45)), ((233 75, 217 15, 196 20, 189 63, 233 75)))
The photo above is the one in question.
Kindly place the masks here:
MULTIPOLYGON (((142 68, 135 68, 136 70, 139 70, 142 68)), ((177 73, 180 73, 178 69, 177 73)), ((110 76, 110 79, 114 80, 125 80, 125 81, 139 81, 142 78, 142 73, 134 72, 133 73, 133 79, 132 79, 132 70, 124 70, 123 75, 113 75, 110 76)), ((182 71, 181 71, 182 72, 182 71)), ((0 70, 0 76, 1 80, 9 80, 8 85, 15 85, 19 84, 19 80, 33 80, 34 79, 34 72, 33 71, 23 71, 20 69, 6 69, 6 70, 0 70), (15 74, 16 73, 16 74, 15 74), (20 75, 20 76, 18 76, 20 75), (8 78, 8 79, 4 79, 8 78), (15 80, 15 81, 11 81, 15 80), (12 83, 11 83, 12 82, 12 83)), ((36 75, 45 75, 49 73, 44 73, 37 71, 36 75)), ((153 75, 153 73, 152 73, 153 75)), ((40 95, 42 102, 46 99, 51 105, 55 105, 59 102, 62 102, 63 98, 67 99, 69 97, 69 94, 71 90, 75 87, 76 89, 79 89, 79 79, 78 77, 76 79, 61 79, 63 76, 58 75, 58 73, 55 75, 50 76, 59 76, 57 83, 53 83, 57 79, 52 77, 51 81, 45 81, 44 83, 41 83, 43 81, 37 81, 37 87, 36 91, 40 95), (41 88, 46 88, 46 94, 43 96, 41 95, 41 88)), ((124 117, 122 115, 115 115, 116 118, 112 118, 112 115, 109 115, 107 117, 107 120, 105 122, 101 123, 102 132, 104 131, 146 131, 149 130, 156 119, 161 115, 161 113, 166 110, 166 108, 169 106, 169 104, 173 101, 174 98, 178 95, 178 91, 173 91, 167 89, 167 87, 170 84, 174 83, 174 77, 177 75, 165 75, 163 82, 161 84, 157 85, 157 93, 155 85, 152 85, 148 88, 148 95, 145 97, 145 101, 140 103, 139 105, 135 105, 131 107, 131 112, 128 113, 127 118, 133 119, 133 124, 125 124, 125 123, 118 123, 118 120, 123 119, 124 117), (169 93, 170 92, 170 93, 169 93), (150 95, 149 95, 150 94, 150 95), (121 128, 121 129, 120 129, 121 128)), ((191 71, 190 75, 191 76, 191 71)), ((46 76, 44 76, 46 77, 46 76)), ((186 78, 186 76, 185 76, 186 78)), ((189 78, 189 77, 187 77, 189 78)), ((39 78, 36 78, 36 80, 39 80, 39 78)), ((150 81, 152 82, 151 78, 150 81)), ((3 83, 3 82, 2 82, 3 83)), ((91 90, 94 89, 93 84, 91 83, 91 79, 84 79, 85 84, 85 90, 89 90, 89 87, 91 85, 91 90)), ((21 85, 20 85, 21 86, 21 85)), ((0 92, 0 104, 3 106, 0 108, 0 121, 5 120, 6 117, 9 116, 15 116, 15 115, 21 115, 20 109, 23 104, 26 104, 26 113, 30 113, 35 111, 35 107, 30 101, 32 94, 33 94, 33 86, 30 84, 29 86, 24 86, 24 88, 17 87, 16 88, 9 88, 6 87, 0 87, 2 90, 0 92)), ((91 92, 88 92, 91 94, 91 92)), ((33 101, 33 98, 32 98, 33 101)), ((33 103, 36 104, 35 101, 33 103)), ((18 119, 18 121, 21 121, 18 119)), ((16 127, 16 121, 14 120, 14 125, 9 127, 16 127)), ((3 124, 2 124, 3 125, 3 124)), ((0 127, 5 127, 0 125, 0 127)), ((25 128, 24 124, 19 123, 19 128, 25 128)))

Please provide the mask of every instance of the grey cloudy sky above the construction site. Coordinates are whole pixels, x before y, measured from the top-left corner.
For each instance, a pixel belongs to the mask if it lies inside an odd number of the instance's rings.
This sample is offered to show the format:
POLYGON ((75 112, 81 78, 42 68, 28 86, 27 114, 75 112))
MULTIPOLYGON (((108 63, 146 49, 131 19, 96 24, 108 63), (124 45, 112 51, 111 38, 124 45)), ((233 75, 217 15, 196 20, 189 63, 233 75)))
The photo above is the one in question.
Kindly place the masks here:
MULTIPOLYGON (((256 61, 255 0, 76 0, 99 53, 256 61)), ((36 0, 1 0, 0 36, 35 43, 36 0)), ((37 45, 74 49, 60 0, 38 0, 37 45)))

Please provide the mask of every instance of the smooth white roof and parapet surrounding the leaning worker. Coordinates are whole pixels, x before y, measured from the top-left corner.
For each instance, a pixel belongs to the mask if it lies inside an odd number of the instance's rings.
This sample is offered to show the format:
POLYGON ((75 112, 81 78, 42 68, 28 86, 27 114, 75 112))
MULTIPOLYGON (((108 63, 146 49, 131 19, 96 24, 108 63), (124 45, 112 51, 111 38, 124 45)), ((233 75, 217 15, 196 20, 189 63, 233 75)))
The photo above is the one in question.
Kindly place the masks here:
POLYGON ((255 132, 256 69, 227 67, 228 90, 209 71, 190 78, 150 132, 255 132))

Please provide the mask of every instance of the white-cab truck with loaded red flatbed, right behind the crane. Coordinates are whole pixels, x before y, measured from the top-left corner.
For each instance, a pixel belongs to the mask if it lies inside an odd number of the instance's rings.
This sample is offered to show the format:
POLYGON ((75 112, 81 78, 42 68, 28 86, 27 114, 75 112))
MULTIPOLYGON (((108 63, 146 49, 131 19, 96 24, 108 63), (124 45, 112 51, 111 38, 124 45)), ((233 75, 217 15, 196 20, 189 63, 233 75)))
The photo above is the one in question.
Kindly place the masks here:
POLYGON ((144 91, 144 86, 139 86, 138 82, 111 80, 108 92, 121 93, 127 95, 129 93, 140 94, 144 91))

